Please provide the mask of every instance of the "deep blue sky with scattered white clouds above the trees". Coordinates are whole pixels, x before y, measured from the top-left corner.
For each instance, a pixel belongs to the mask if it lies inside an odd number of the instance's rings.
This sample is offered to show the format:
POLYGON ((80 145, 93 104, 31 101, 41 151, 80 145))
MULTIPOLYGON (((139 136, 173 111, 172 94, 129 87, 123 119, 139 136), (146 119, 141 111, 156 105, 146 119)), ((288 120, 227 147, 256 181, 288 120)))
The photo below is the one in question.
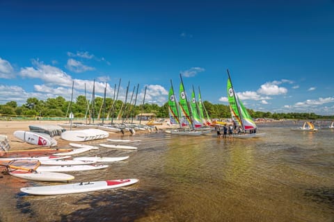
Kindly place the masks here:
POLYGON ((0 104, 92 92, 162 105, 187 94, 247 108, 334 114, 334 1, 0 0, 0 104))

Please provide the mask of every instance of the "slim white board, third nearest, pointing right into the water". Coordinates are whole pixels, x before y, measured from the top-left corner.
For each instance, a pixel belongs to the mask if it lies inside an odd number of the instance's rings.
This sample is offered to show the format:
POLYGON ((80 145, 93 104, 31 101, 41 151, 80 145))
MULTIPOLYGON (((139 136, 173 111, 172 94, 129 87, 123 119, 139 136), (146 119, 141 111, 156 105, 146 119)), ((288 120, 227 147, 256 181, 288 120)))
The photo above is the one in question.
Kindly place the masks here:
POLYGON ((71 172, 71 171, 92 171, 95 169, 105 169, 109 167, 104 164, 93 165, 67 165, 67 166, 40 166, 36 169, 38 172, 71 172))

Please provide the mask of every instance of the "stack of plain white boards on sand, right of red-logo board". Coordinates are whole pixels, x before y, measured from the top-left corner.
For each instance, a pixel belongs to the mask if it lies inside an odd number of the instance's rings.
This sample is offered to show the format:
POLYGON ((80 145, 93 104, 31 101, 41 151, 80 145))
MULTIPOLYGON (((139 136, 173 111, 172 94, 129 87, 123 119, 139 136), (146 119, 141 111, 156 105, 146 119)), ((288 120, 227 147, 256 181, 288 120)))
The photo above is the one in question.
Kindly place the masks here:
POLYGON ((61 133, 61 139, 72 142, 83 142, 107 137, 109 137, 109 133, 99 129, 72 130, 61 133))

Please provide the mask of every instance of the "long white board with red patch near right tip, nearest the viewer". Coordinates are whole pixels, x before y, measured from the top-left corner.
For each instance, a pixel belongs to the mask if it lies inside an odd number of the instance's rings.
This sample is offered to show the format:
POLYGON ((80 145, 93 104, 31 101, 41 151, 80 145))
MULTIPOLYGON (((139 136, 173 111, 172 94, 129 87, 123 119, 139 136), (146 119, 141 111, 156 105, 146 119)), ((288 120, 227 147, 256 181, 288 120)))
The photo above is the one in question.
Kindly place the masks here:
POLYGON ((61 194, 77 194, 90 191, 98 191, 102 189, 114 189, 133 185, 138 179, 123 180, 102 180, 93 182, 79 182, 68 185, 53 185, 41 187, 22 187, 21 191, 26 194, 33 195, 61 195, 61 194))

